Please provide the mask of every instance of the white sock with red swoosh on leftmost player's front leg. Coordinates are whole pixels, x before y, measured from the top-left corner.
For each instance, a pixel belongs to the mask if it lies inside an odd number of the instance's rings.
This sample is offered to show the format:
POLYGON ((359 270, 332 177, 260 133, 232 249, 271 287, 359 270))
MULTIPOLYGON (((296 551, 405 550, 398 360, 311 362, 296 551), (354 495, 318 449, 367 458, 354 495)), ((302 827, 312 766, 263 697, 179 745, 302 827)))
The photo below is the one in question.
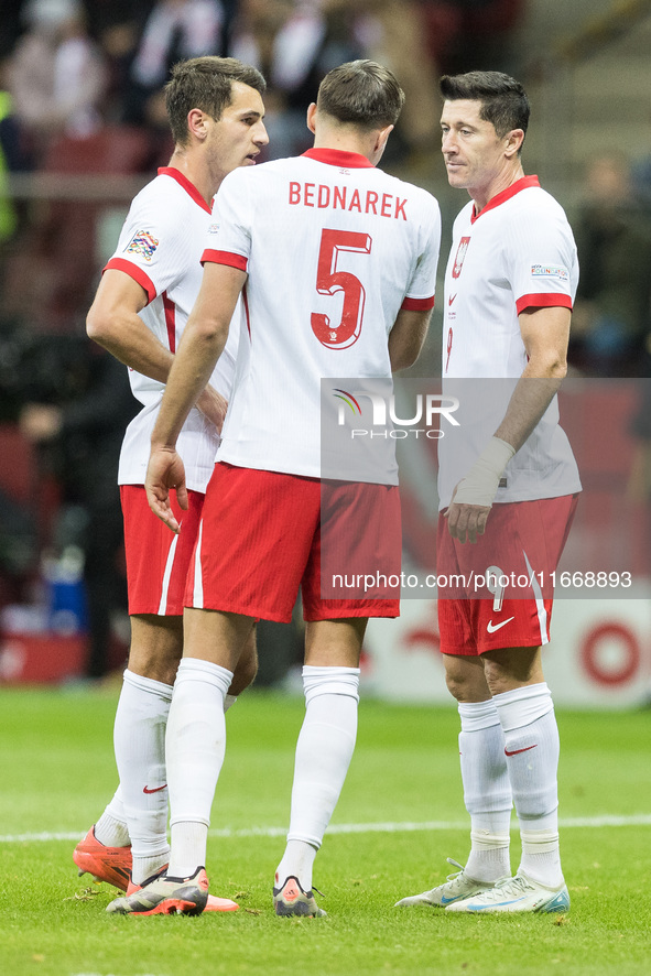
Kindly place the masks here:
POLYGON ((135 885, 170 858, 165 725, 171 701, 171 685, 124 671, 113 746, 135 885))

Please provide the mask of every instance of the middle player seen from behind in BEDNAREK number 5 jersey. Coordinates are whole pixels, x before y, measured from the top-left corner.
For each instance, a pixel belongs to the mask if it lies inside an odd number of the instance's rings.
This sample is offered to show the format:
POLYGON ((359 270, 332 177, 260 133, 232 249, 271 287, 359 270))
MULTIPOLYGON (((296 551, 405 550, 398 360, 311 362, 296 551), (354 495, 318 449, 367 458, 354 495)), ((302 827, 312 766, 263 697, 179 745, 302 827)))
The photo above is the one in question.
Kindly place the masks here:
MULTIPOLYGON (((152 435, 147 478, 153 510, 176 529, 169 491, 174 487, 183 506, 185 475, 174 444, 243 293, 234 392, 186 590, 184 657, 167 724, 172 856, 166 877, 109 911, 202 911, 226 748, 224 696, 253 619, 290 620, 301 586, 306 712, 273 899, 279 915, 324 914, 313 863, 355 746, 367 618, 398 616, 399 601, 395 590, 322 598, 321 380, 390 382, 392 370, 415 361, 425 338, 438 205, 377 169, 403 98, 387 68, 341 65, 307 111, 314 148, 234 172, 220 187, 219 226, 207 235, 204 281, 152 435)), ((400 533, 388 531, 399 521, 395 484, 340 481, 328 490, 338 541, 369 533, 379 562, 399 565, 400 533)))

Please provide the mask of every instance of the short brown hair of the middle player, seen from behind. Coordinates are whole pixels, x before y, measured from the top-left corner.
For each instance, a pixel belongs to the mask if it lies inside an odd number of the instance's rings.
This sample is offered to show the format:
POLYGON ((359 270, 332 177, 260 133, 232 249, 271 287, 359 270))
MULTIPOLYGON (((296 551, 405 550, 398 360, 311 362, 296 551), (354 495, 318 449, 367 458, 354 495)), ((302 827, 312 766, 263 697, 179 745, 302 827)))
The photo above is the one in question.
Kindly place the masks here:
POLYGON ((349 61, 333 68, 318 86, 316 105, 338 122, 364 128, 394 126, 404 91, 389 68, 375 61, 349 61))

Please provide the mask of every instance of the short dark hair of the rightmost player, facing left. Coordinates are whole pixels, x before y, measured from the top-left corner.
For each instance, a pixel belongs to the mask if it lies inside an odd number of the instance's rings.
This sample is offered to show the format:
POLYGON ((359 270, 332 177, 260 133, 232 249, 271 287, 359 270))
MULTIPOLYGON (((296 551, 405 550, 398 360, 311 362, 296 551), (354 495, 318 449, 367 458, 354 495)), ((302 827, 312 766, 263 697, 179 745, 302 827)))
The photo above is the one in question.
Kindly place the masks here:
POLYGON ((438 86, 446 101, 462 98, 480 101, 479 118, 491 122, 500 139, 512 129, 522 129, 527 134, 531 106, 520 82, 509 75, 501 72, 443 75, 438 86))

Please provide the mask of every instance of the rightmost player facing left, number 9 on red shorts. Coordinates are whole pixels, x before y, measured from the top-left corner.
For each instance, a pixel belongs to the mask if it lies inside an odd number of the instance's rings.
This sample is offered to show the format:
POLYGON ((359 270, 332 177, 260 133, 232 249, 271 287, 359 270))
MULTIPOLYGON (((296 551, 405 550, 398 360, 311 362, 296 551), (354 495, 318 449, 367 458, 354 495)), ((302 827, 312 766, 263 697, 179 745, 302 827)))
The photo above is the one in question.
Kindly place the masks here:
POLYGON ((566 372, 576 248, 561 206, 524 175, 530 107, 522 86, 470 72, 444 76, 441 91, 448 181, 471 197, 455 221, 445 276, 444 388, 463 406, 473 388, 492 384, 481 398, 489 417, 491 399, 508 395, 495 426, 486 430, 477 415, 467 425, 474 464, 447 437, 440 444, 437 572, 464 579, 460 590, 440 592, 438 622, 460 715, 470 855, 446 882, 398 904, 564 912, 558 733, 541 649, 550 576, 581 490, 555 398, 566 372), (476 589, 481 577, 486 585, 476 589), (514 877, 512 802, 522 838, 514 877))

